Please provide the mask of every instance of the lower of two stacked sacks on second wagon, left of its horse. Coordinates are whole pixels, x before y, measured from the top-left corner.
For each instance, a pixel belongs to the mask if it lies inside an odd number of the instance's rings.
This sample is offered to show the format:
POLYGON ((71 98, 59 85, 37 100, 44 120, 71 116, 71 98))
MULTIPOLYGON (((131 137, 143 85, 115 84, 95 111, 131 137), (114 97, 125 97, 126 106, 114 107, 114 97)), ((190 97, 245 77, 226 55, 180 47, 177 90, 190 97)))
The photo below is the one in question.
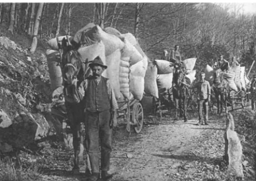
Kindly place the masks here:
POLYGON ((166 88, 170 89, 173 86, 173 73, 157 75, 157 88, 158 90, 166 88))

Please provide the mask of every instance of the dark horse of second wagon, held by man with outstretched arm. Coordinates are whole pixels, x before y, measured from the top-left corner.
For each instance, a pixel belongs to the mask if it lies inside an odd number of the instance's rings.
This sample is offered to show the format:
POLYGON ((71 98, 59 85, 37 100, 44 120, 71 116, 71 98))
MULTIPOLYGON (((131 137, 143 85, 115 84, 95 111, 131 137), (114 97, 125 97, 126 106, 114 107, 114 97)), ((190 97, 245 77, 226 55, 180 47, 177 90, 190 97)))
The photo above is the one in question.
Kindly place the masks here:
POLYGON ((175 71, 173 72, 173 99, 175 102, 175 118, 174 122, 178 120, 178 110, 180 109, 180 117, 184 118, 184 122, 187 122, 187 103, 190 96, 190 91, 187 86, 182 84, 185 82, 190 85, 191 82, 185 77, 187 70, 185 69, 184 63, 179 63, 175 65, 175 71))

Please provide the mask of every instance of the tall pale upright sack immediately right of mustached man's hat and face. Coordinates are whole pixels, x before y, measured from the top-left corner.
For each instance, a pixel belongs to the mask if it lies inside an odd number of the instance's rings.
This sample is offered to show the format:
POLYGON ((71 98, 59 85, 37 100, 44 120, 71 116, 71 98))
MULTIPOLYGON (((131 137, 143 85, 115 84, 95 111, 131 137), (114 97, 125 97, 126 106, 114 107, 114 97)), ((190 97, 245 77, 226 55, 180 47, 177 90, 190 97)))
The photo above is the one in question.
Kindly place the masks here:
POLYGON ((120 82, 119 82, 119 65, 120 65, 120 50, 115 50, 112 54, 106 57, 106 66, 108 68, 102 73, 103 77, 110 80, 111 86, 115 92, 115 98, 118 100, 121 98, 120 82))

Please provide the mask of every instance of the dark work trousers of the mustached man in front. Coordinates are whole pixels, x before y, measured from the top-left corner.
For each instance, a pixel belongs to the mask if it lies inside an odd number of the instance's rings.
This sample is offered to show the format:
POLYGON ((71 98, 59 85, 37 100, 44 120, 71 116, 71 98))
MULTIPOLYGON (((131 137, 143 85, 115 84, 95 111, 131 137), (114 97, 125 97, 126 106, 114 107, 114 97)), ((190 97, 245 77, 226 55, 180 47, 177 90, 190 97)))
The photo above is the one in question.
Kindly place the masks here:
POLYGON ((110 110, 85 112, 85 128, 88 140, 88 155, 92 173, 99 173, 99 140, 101 147, 101 171, 108 171, 112 151, 112 129, 110 128, 110 110))

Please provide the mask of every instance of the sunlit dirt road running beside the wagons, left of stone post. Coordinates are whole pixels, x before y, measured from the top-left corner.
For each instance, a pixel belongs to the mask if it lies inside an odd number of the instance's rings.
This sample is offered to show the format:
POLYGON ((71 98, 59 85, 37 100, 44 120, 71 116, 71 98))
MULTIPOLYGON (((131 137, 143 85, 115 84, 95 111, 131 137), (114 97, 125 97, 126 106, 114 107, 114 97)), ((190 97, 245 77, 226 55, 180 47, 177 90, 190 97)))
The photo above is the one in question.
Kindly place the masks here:
MULTIPOLYGON (((182 167, 211 158, 216 161, 224 154, 224 121, 210 120, 207 126, 197 126, 197 122, 191 119, 187 123, 180 121, 173 124, 167 116, 162 118, 161 124, 145 125, 142 133, 132 133, 128 138, 122 135, 123 131, 118 131, 111 160, 111 171, 117 174, 111 181, 189 180, 186 173, 196 170, 194 167, 182 170, 182 167), (220 141, 215 145, 217 152, 212 146, 199 145, 209 136, 216 142, 220 141), (207 153, 206 158, 203 158, 201 151, 207 153), (127 154, 131 158, 127 158, 127 154)), ((193 175, 190 176, 192 179, 193 175)), ((192 180, 200 180, 200 177, 192 180)))

